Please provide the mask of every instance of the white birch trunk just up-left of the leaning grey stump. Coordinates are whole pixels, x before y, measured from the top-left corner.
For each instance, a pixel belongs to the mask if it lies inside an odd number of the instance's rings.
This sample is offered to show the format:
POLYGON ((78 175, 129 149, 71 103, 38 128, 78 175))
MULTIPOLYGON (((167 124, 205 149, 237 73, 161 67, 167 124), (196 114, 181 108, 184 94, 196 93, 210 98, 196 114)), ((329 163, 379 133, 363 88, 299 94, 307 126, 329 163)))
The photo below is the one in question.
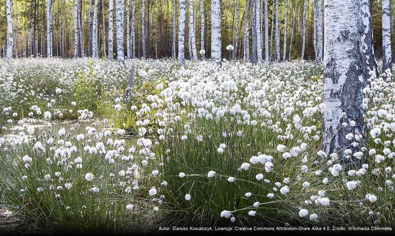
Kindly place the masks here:
POLYGON ((116 59, 119 64, 125 64, 125 54, 123 52, 123 0, 115 0, 115 15, 116 15, 116 59))

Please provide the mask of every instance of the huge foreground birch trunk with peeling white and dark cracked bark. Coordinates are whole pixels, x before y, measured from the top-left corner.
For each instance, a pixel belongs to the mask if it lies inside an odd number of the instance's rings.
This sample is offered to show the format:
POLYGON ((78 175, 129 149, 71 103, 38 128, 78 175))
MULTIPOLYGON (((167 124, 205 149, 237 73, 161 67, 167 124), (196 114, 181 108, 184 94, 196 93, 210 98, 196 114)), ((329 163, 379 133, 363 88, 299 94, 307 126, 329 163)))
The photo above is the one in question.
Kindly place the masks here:
POLYGON ((359 0, 324 0, 324 8, 322 148, 327 155, 339 151, 339 159, 350 163, 352 160, 347 160, 341 150, 356 152, 361 145, 353 146, 356 140, 345 136, 362 135, 360 140, 364 140, 365 134, 359 0))

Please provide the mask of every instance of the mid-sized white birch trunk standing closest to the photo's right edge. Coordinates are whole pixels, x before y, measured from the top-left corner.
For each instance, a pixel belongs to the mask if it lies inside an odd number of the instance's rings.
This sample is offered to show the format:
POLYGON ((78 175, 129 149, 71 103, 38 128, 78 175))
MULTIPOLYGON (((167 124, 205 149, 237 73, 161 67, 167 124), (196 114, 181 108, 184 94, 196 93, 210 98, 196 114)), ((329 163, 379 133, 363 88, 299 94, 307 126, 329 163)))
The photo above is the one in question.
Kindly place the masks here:
POLYGON ((392 72, 390 0, 382 0, 383 6, 383 73, 390 69, 392 72))

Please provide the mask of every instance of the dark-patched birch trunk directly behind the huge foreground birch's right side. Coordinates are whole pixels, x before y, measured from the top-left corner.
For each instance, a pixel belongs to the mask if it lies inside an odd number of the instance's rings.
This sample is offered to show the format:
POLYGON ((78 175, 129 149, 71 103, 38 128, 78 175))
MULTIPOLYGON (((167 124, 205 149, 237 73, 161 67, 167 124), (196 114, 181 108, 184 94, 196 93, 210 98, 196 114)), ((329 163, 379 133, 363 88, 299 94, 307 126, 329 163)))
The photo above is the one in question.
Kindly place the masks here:
POLYGON ((377 70, 377 64, 374 56, 373 50, 373 31, 372 31, 372 5, 370 0, 362 0, 361 2, 362 10, 362 23, 363 23, 363 35, 362 35, 362 52, 363 52, 363 63, 365 68, 365 80, 367 80, 370 75, 369 71, 373 71, 376 77, 379 76, 377 70))

